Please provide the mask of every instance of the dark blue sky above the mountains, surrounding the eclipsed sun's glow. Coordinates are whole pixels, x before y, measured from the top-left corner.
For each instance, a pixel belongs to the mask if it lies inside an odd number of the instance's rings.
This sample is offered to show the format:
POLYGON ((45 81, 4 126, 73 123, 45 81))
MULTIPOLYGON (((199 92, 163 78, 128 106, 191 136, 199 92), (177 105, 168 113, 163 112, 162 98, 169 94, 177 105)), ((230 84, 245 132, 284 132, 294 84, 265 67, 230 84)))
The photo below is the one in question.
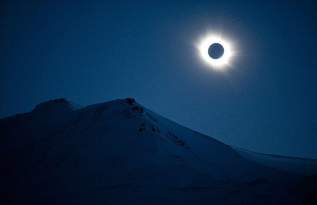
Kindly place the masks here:
POLYGON ((0 117, 135 98, 255 152, 317 158, 317 1, 0 1, 0 117), (196 46, 221 34, 219 71, 196 46))

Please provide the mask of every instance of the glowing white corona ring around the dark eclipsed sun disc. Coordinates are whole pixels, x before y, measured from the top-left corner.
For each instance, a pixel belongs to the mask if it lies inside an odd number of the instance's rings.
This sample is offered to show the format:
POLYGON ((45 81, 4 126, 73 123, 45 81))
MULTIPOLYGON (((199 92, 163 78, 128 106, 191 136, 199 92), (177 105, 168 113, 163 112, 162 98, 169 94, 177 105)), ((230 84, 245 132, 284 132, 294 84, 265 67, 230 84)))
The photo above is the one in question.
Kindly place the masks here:
POLYGON ((221 38, 208 37, 202 41, 198 46, 198 49, 200 50, 201 57, 214 68, 221 68, 229 63, 229 58, 231 56, 230 46, 221 38), (223 55, 218 59, 213 59, 208 54, 209 47, 214 43, 221 44, 224 49, 223 55))

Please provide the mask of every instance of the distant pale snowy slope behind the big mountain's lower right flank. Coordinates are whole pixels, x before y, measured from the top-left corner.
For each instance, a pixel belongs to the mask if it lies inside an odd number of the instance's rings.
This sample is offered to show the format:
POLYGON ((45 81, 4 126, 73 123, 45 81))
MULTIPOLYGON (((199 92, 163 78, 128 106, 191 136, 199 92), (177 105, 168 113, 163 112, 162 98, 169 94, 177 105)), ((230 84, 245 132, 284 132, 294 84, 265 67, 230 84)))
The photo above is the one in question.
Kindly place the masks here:
POLYGON ((274 154, 255 153, 234 146, 230 146, 243 157, 254 163, 274 167, 304 176, 317 174, 317 159, 297 158, 274 154))

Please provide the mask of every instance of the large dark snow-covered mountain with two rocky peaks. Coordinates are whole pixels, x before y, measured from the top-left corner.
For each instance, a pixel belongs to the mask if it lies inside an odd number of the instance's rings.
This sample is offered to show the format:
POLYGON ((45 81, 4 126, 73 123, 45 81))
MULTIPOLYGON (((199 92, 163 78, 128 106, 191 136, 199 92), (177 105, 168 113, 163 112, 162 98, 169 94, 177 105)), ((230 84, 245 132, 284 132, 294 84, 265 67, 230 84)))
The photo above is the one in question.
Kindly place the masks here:
MULTIPOLYGON (((56 99, 0 119, 0 204, 296 205, 317 199, 316 175, 248 152, 134 99, 86 107, 56 99)), ((312 159, 310 170, 316 167, 312 159)))

